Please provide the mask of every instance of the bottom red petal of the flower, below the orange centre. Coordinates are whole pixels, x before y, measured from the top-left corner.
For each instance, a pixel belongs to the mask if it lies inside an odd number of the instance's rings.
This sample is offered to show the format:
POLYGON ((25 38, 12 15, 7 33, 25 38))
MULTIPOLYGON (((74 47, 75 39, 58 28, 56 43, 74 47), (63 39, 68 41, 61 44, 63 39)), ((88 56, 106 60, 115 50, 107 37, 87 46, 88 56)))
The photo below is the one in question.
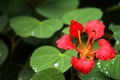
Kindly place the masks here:
POLYGON ((71 64, 80 73, 87 74, 94 67, 94 60, 78 59, 73 56, 71 64))

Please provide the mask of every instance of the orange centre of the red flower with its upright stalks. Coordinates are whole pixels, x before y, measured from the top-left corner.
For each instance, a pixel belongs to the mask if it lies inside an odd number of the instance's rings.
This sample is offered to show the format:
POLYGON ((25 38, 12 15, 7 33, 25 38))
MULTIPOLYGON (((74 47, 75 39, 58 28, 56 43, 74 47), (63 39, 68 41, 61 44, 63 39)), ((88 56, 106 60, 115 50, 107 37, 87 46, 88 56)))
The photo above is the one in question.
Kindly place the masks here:
MULTIPOLYGON (((95 33, 93 32, 91 35, 95 35, 95 33)), ((92 50, 94 40, 95 40, 94 37, 93 38, 88 37, 86 45, 83 46, 83 43, 81 40, 81 35, 80 35, 80 30, 78 30, 78 43, 80 45, 80 49, 78 49, 77 47, 75 49, 78 51, 80 58, 84 58, 84 59, 88 59, 88 60, 94 59, 95 51, 92 50)))

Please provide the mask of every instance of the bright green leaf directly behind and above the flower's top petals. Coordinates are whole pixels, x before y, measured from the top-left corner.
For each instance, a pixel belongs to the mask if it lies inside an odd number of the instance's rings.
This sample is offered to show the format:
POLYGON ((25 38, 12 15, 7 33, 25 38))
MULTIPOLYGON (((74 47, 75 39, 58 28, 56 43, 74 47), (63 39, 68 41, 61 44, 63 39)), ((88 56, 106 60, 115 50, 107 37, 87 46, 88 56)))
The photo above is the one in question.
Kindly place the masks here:
POLYGON ((63 16, 63 22, 70 24, 71 20, 76 20, 82 24, 94 19, 101 19, 102 11, 98 8, 81 8, 66 13, 63 16))

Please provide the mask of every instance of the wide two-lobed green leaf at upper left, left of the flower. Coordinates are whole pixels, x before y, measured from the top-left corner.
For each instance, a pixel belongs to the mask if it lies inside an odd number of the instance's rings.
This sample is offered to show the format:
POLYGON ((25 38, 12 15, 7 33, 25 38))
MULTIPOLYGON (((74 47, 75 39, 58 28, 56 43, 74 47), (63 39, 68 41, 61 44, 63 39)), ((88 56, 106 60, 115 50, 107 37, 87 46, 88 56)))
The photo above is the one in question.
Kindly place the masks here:
POLYGON ((29 16, 19 16, 10 20, 10 25, 21 37, 49 38, 62 27, 58 19, 39 21, 29 16))

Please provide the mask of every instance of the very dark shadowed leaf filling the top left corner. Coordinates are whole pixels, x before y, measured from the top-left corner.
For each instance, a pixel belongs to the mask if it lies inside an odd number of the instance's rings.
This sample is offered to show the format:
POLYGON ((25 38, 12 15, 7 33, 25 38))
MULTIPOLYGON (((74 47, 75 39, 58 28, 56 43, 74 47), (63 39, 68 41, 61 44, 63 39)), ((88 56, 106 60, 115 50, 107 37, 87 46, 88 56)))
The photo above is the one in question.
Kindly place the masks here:
POLYGON ((29 9, 25 0, 0 0, 0 10, 13 15, 13 13, 28 13, 29 9))

